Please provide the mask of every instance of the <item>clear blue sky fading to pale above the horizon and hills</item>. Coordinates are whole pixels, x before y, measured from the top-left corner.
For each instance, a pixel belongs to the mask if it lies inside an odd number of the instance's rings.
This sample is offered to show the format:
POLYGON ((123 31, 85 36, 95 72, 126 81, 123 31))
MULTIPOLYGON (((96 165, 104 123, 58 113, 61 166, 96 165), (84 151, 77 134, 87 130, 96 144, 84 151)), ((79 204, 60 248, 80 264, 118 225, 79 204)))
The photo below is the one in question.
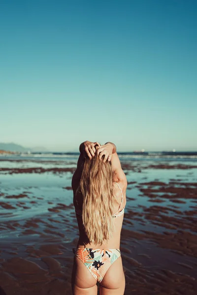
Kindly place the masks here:
POLYGON ((0 1, 0 142, 197 150, 196 0, 0 1))

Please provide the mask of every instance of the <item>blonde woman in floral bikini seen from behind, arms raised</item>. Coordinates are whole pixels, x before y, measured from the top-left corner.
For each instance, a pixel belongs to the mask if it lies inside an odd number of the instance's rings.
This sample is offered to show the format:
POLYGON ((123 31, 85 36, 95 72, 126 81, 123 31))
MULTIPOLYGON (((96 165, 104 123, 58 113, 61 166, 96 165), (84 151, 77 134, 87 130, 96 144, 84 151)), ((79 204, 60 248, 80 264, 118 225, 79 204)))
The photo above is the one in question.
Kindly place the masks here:
POLYGON ((80 145, 72 177, 79 240, 72 270, 74 295, 123 295, 125 275, 120 233, 127 179, 116 147, 86 141, 80 145))

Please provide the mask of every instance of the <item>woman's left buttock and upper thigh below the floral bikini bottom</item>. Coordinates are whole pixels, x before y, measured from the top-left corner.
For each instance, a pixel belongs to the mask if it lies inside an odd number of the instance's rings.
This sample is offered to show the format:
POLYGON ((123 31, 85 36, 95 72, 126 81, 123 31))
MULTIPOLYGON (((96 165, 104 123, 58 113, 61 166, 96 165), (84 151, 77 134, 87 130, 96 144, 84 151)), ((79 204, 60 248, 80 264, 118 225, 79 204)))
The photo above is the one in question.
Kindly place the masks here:
POLYGON ((73 295, 97 295, 97 280, 76 256, 73 259, 71 283, 73 295))

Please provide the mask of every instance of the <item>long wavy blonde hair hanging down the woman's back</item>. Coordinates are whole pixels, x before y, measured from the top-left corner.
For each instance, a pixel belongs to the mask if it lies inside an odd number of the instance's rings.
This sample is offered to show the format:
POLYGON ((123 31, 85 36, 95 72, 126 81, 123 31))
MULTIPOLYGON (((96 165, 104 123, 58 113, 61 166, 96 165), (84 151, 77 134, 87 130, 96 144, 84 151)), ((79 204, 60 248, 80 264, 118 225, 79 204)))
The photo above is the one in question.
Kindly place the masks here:
POLYGON ((79 187, 83 196, 83 225, 90 242, 102 244, 114 231, 113 171, 111 162, 104 163, 97 153, 85 158, 79 187))

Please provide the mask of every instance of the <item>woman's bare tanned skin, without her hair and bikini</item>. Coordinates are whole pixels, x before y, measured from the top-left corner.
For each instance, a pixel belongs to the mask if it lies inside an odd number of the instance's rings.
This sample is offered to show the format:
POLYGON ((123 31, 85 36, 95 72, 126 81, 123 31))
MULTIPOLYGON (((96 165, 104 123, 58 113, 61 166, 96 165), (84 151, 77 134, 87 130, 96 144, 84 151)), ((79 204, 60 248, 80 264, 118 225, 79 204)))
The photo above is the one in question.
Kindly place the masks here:
MULTIPOLYGON (((104 154, 104 161, 111 161, 112 170, 114 172, 114 182, 117 182, 123 191, 123 203, 121 208, 126 205, 126 189, 127 178, 122 170, 121 163, 116 152, 116 147, 112 143, 107 143, 100 146, 99 143, 84 142, 80 145, 80 156, 77 163, 77 169, 72 177, 73 189, 73 204, 78 204, 79 209, 82 209, 83 200, 80 194, 76 194, 79 181, 83 170, 84 156, 92 158, 98 152, 100 158, 104 154), (95 145, 99 145, 96 150, 95 145)), ((114 204, 114 213, 118 210, 121 203, 121 191, 117 184, 113 185, 114 194, 117 202, 114 204)), ((120 234, 123 224, 123 215, 114 219, 115 232, 108 241, 103 241, 102 245, 97 245, 90 242, 84 231, 82 218, 77 217, 79 227, 79 240, 77 248, 106 248, 106 249, 120 249, 120 234)), ((72 272, 72 291, 73 295, 97 295, 97 281, 92 276, 90 271, 84 264, 74 257, 74 266, 72 272)), ((103 280, 100 283, 100 295, 124 295, 125 290, 125 276, 123 272, 122 259, 119 257, 107 270, 103 280)))

